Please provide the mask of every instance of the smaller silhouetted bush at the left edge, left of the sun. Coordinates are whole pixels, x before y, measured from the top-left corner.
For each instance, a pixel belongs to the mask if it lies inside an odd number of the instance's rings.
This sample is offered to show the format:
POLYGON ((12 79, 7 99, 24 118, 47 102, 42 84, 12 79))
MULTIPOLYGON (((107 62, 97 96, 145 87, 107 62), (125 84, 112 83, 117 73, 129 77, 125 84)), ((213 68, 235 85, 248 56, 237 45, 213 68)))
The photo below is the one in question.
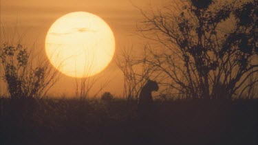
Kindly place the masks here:
POLYGON ((1 75, 11 98, 40 98, 58 81, 60 73, 47 59, 35 58, 20 43, 0 47, 1 75))

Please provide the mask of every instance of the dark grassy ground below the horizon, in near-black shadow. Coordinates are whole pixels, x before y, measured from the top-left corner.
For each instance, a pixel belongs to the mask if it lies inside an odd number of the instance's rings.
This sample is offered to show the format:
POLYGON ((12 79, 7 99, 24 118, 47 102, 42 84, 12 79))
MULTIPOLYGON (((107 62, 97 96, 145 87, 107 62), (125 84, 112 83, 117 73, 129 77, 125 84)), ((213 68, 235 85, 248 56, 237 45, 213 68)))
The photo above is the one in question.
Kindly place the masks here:
POLYGON ((140 122, 125 100, 1 98, 0 144, 257 144, 257 100, 155 101, 140 122))

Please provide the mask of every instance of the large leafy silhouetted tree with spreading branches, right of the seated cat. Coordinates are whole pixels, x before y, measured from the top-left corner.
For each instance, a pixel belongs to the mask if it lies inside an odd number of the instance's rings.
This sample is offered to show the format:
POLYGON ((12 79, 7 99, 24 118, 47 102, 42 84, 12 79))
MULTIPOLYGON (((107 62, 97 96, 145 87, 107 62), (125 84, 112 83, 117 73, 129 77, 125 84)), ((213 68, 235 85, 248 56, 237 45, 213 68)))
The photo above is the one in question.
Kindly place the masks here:
POLYGON ((149 47, 143 61, 186 98, 217 98, 217 87, 232 98, 258 71, 257 3, 191 0, 158 11, 140 9, 145 20, 138 30, 162 44, 149 47))

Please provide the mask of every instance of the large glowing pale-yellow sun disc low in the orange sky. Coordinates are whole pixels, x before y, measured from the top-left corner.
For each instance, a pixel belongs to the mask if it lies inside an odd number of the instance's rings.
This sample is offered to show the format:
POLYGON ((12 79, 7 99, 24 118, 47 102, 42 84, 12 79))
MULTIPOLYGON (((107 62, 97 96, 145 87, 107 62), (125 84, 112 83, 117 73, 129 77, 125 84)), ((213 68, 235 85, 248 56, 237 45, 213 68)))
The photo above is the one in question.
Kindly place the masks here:
POLYGON ((50 63, 67 76, 94 76, 111 62, 115 38, 99 16, 72 12, 52 24, 45 38, 45 52, 50 63))

